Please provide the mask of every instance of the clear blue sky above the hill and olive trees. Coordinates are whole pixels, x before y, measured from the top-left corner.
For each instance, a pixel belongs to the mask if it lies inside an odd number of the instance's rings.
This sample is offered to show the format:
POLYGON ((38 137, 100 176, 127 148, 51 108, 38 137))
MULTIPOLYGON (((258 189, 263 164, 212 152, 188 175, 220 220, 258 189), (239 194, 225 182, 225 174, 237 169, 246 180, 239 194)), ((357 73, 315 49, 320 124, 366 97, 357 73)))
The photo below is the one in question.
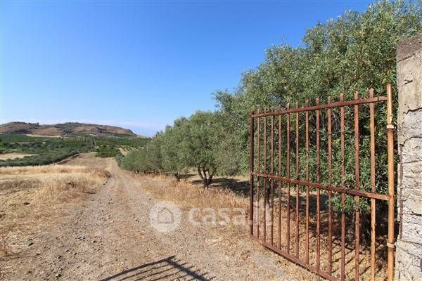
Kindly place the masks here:
POLYGON ((1 1, 1 123, 152 136, 234 89, 271 44, 371 1, 1 1))

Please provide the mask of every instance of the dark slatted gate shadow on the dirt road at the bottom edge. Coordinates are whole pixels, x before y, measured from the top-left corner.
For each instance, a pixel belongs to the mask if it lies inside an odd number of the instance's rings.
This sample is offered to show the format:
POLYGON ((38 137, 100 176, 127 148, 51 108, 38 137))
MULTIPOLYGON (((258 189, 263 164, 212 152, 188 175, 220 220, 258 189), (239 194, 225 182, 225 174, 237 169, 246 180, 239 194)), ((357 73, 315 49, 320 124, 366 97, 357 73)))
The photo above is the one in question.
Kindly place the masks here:
POLYGON ((123 281, 123 280, 200 280, 208 281, 215 279, 207 272, 201 272, 201 269, 195 269, 188 263, 169 256, 166 259, 160 259, 151 263, 145 263, 128 270, 123 270, 115 275, 103 278, 101 281, 123 281))

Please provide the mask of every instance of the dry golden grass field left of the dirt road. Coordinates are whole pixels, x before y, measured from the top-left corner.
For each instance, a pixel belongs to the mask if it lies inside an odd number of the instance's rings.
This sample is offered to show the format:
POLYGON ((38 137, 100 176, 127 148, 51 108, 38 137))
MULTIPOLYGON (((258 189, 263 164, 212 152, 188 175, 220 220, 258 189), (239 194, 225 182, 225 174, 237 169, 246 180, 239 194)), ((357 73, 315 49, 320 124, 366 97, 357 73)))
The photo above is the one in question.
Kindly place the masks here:
POLYGON ((85 166, 0 168, 0 257, 22 251, 27 233, 58 221, 62 207, 96 192, 109 176, 85 166))

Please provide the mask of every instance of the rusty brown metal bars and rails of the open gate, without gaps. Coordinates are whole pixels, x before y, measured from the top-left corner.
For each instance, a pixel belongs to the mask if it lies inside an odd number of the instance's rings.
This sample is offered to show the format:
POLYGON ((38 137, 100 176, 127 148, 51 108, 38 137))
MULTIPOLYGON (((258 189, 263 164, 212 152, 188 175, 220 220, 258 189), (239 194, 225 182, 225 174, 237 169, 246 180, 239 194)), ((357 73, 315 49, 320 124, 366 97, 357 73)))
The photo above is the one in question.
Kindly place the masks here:
MULTIPOLYGON (((328 103, 324 104, 324 105, 320 105, 319 104, 319 99, 316 99, 316 105, 313 106, 308 106, 308 104, 305 104, 305 107, 298 107, 298 103, 296 103, 296 107, 290 109, 289 105, 287 105, 286 110, 281 110, 281 107, 279 106, 278 111, 274 111, 271 110, 271 112, 267 112, 267 110, 264 110, 263 113, 260 113, 259 110, 257 110, 257 112, 254 112, 253 110, 250 110, 250 212, 249 212, 249 225, 250 225, 250 237, 252 237, 252 239, 257 240, 257 242, 260 242, 261 244, 264 245, 264 247, 267 247, 269 249, 271 249, 272 251, 275 251, 277 254, 281 254, 281 256, 286 257, 287 259, 290 259, 290 261, 294 261, 295 263, 298 263, 300 266, 303 266, 305 268, 307 268, 307 270, 316 273, 318 275, 320 275, 321 277, 324 277, 328 280, 344 280, 345 279, 345 215, 344 213, 342 213, 342 233, 341 233, 341 265, 340 265, 340 279, 337 279, 336 277, 334 277, 332 275, 332 271, 331 271, 331 266, 332 266, 332 261, 331 261, 331 251, 328 252, 328 259, 329 259, 329 263, 328 263, 328 270, 329 273, 326 273, 326 271, 321 270, 319 268, 319 253, 318 253, 318 249, 317 249, 317 266, 316 268, 314 268, 314 266, 311 266, 309 264, 309 240, 307 240, 307 261, 302 261, 299 256, 298 256, 298 246, 296 246, 296 254, 295 256, 293 254, 290 254, 289 251, 283 251, 281 249, 281 247, 274 247, 273 244, 273 233, 272 233, 272 226, 271 226, 271 243, 265 241, 266 238, 264 238, 264 241, 260 240, 259 237, 259 226, 260 223, 258 221, 257 223, 257 236, 254 235, 254 196, 253 196, 253 191, 254 191, 254 178, 257 177, 259 178, 264 178, 264 188, 265 188, 265 184, 267 182, 267 178, 271 178, 273 180, 277 180, 279 181, 279 183, 281 183, 282 181, 284 183, 288 183, 288 186, 290 186, 290 183, 293 183, 295 185, 303 185, 303 186, 307 186, 307 190, 309 190, 309 187, 312 188, 316 188, 316 190, 319 193, 319 190, 323 189, 323 190, 328 190, 330 192, 335 191, 335 192, 339 192, 341 193, 341 197, 342 197, 342 201, 345 198, 345 194, 348 195, 353 195, 355 198, 357 198, 357 200, 359 200, 359 197, 366 197, 371 199, 371 280, 374 280, 375 278, 375 253, 376 253, 376 244, 375 244, 375 223, 376 223, 376 215, 375 215, 375 206, 376 206, 376 200, 385 200, 388 202, 388 242, 386 243, 386 246, 388 247, 388 273, 387 273, 387 277, 388 277, 388 281, 392 281, 394 279, 394 252, 395 252, 395 226, 394 226, 394 217, 395 217, 395 187, 394 187, 394 130, 395 130, 395 126, 392 122, 392 115, 393 115, 393 111, 392 111, 392 85, 388 84, 386 87, 386 91, 387 91, 387 96, 378 96, 378 97, 374 97, 373 96, 373 89, 369 90, 369 94, 370 97, 369 98, 362 98, 359 99, 359 94, 356 92, 354 93, 354 100, 348 100, 348 101, 344 101, 343 100, 343 94, 340 94, 340 101, 339 102, 335 102, 335 103, 331 103, 331 98, 328 97, 328 103), (375 192, 375 138, 374 138, 374 133, 375 133, 375 125, 374 125, 374 103, 377 102, 381 102, 381 101, 387 101, 387 126, 386 126, 386 130, 387 130, 387 150, 388 150, 388 195, 383 195, 383 194, 379 194, 375 192), (358 105, 361 104, 369 104, 370 106, 370 126, 371 126, 371 192, 365 192, 363 190, 359 190, 359 141, 356 141, 357 136, 359 136, 359 107, 358 105), (329 112, 329 119, 328 119, 328 155, 329 155, 329 160, 328 160, 328 165, 330 166, 329 169, 331 169, 331 109, 332 108, 336 108, 336 107, 340 107, 341 110, 341 123, 342 123, 342 145, 341 145, 341 149, 342 149, 342 155, 343 155, 343 162, 342 162, 342 169, 344 169, 344 149, 345 149, 345 144, 344 144, 344 118, 345 118, 345 112, 344 112, 344 107, 345 106, 350 106, 350 105, 354 105, 354 128, 355 128, 355 168, 357 169, 358 173, 357 173, 357 177, 356 177, 356 181, 357 181, 357 189, 346 189, 345 187, 339 188, 339 187, 335 187, 332 185, 322 185, 321 183, 312 183, 309 182, 309 176, 307 176, 307 180, 306 181, 300 181, 299 179, 294 179, 294 178, 290 178, 290 174, 287 175, 287 177, 282 177, 282 176, 275 176, 274 175, 274 170, 272 167, 272 163, 273 161, 271 161, 271 174, 267 173, 267 167, 265 166, 266 171, 264 171, 264 173, 260 173, 259 171, 259 166, 260 166, 260 150, 259 150, 259 143, 260 143, 260 117, 268 117, 271 116, 271 159, 272 159, 272 155, 274 153, 274 147, 273 147, 273 133, 274 133, 274 124, 273 124, 273 117, 274 116, 279 116, 281 118, 282 115, 287 115, 288 118, 288 124, 290 124, 290 113, 296 113, 296 124, 298 124, 298 114, 299 112, 305 112, 307 114, 308 117, 308 113, 312 112, 312 111, 316 111, 318 112, 318 114, 316 115, 317 117, 317 123, 316 126, 317 128, 319 127, 319 110, 323 110, 323 109, 327 109, 329 112), (257 118, 258 120, 258 125, 257 125, 257 133, 258 133, 258 153, 257 153, 257 159, 258 159, 258 171, 255 172, 255 166, 254 166, 254 162, 255 162, 255 131, 254 131, 254 123, 255 123, 255 118, 257 118)), ((272 108, 271 108, 272 109, 272 108)), ((266 129, 267 129, 267 118, 264 119, 264 142, 266 143, 266 129)), ((281 123, 279 123, 281 124, 281 123)), ((279 125, 281 126, 281 125, 279 125)), ((288 136, 288 141, 287 141, 287 150, 288 152, 290 152, 290 126, 288 125, 287 128, 287 136, 288 136)), ((281 127, 279 127, 281 128, 281 127)), ((298 128, 298 126, 297 126, 298 128)), ((306 124, 306 132, 307 132, 307 145, 308 145, 308 123, 306 124)), ((280 130, 281 131, 281 130, 280 130)), ((319 131, 319 130, 317 130, 319 131)), ((318 133, 319 134, 319 133, 318 133)), ((297 135, 298 136, 298 131, 297 131, 297 135)), ((279 143, 279 145, 281 145, 279 143)), ((317 161, 319 159, 319 137, 317 136, 317 161)), ((281 146, 279 147, 279 150, 281 153, 281 146)), ((296 145, 296 151, 298 151, 298 142, 296 145)), ((290 156, 289 156, 290 157, 290 156)), ((298 155, 296 155, 297 159, 297 163, 298 163, 298 155)), ((264 150, 264 158, 267 159, 267 155, 266 155, 266 149, 264 150)), ((288 171, 290 171, 290 158, 288 160, 288 171)), ((298 165, 297 165, 298 167, 298 165)), ((344 171, 344 170, 343 170, 344 171)), ((317 171, 317 174, 319 174, 319 169, 317 171)), ((343 173, 342 173, 343 175, 343 173)), ((258 181, 258 188, 259 188, 259 181, 258 181)), ((280 187, 281 188, 281 187, 280 187)), ((274 210, 274 181, 271 181, 271 193, 273 194, 273 200, 272 200, 272 209, 274 210)), ((266 190, 266 188, 264 189, 266 190)), ((290 190, 290 188, 289 188, 290 190)), ((298 188, 297 188, 298 190, 298 188)), ((265 192, 265 191, 264 191, 265 192)), ((265 195, 264 195, 265 196, 265 195)), ((259 193, 258 193, 258 200, 259 200, 259 193)), ((290 193, 289 193, 289 198, 290 198, 290 193)), ((307 200, 309 199, 309 193, 307 191, 307 200)), ((265 199, 264 199, 265 200, 265 199)), ((258 201, 259 202, 259 201, 258 201)), ((344 202, 344 201, 343 201, 344 202)), ((264 203, 265 204, 265 203, 264 203)), ((298 208, 298 200, 296 201, 296 207, 298 208)), ((319 204, 319 200, 318 203, 319 204)), ((290 204, 288 204, 289 206, 290 204)), ((318 211, 319 211, 319 205, 318 206, 318 211)), ((330 208, 331 208, 331 204, 330 204, 330 208)), ((288 208, 288 214, 290 214, 290 208, 288 208)), ((297 213, 298 213, 298 209, 297 209, 297 213)), ((332 221, 331 221, 331 211, 329 212, 329 216, 328 216, 328 228, 329 228, 329 233, 331 233, 331 225, 332 225, 332 221)), ((265 214, 265 212, 264 212, 265 214)), ((296 216, 298 216, 298 214, 296 214, 296 216)), ((357 226, 359 226, 359 211, 357 211, 357 226)), ((308 213, 308 206, 307 206, 307 223, 309 221, 309 213, 308 213)), ((264 235, 266 232, 266 225, 265 225, 265 215, 264 215, 264 235)), ((279 219, 281 219, 281 215, 279 214, 279 219)), ((289 219, 289 218, 288 218, 289 219)), ((318 221, 319 222, 319 221, 318 221)), ((271 215, 271 223, 274 223, 274 219, 272 218, 271 215)), ((289 221, 290 224, 290 221, 289 221)), ((296 220, 296 228, 298 229, 298 220, 296 220)), ((319 223, 317 224, 317 228, 319 228, 319 223)), ((307 228, 307 231, 309 230, 309 228, 307 228)), ((296 243, 298 243, 298 236, 296 235, 296 243)), ((359 237, 359 227, 356 228, 356 236, 359 237)), ((356 239, 355 236, 355 242, 356 247, 355 247, 355 280, 359 280, 359 263, 356 263, 356 261, 359 261, 359 239, 356 239), (358 249, 358 250, 356 250, 358 249)), ((264 236, 266 237, 266 236, 264 236)), ((279 233, 279 239, 281 237, 281 233, 279 233)), ((319 237, 319 233, 318 233, 318 237, 319 237)), ((329 240, 331 241, 331 237, 332 235, 329 237, 329 240)), ((288 238, 290 238, 290 234, 288 235, 288 238)), ((307 239, 309 239, 309 237, 307 237, 307 239)), ((288 249, 290 249, 290 242, 288 240, 288 249)), ((317 246, 319 244, 319 238, 317 239, 317 246)), ((280 245, 280 244, 279 244, 280 245)), ((297 244, 298 245, 298 244, 297 244)), ((317 247, 319 248, 319 247, 317 247)), ((331 244, 330 244, 330 249, 331 249, 331 244)))

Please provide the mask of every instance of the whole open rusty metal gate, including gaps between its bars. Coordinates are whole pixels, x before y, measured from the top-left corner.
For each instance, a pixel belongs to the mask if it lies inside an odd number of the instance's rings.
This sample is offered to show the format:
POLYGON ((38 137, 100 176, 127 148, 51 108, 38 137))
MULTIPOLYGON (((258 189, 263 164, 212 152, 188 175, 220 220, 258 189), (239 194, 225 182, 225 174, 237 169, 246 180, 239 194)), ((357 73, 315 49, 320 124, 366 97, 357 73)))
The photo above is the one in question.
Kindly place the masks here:
POLYGON ((327 280, 393 279, 392 86, 373 92, 250 113, 250 235, 327 280), (387 115, 379 130, 377 110, 387 115))

